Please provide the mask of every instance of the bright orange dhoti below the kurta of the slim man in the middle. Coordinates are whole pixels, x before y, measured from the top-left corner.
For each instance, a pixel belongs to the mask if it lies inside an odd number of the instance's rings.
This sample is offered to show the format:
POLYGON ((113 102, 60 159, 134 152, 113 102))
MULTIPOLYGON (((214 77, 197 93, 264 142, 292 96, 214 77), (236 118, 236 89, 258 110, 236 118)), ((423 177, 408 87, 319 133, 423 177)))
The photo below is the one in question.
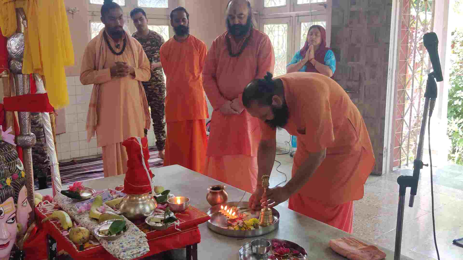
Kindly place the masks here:
POLYGON ((167 122, 164 166, 178 164, 202 173, 206 160, 205 119, 167 122))

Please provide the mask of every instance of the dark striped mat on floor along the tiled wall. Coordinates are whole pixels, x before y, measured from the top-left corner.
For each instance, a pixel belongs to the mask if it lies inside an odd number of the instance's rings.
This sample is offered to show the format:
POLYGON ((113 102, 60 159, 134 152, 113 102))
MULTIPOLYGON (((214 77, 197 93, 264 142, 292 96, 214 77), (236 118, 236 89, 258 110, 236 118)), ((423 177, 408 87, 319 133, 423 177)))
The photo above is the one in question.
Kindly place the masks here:
MULTIPOLYGON (((150 168, 163 166, 163 159, 157 156, 157 149, 150 148, 150 159, 148 163, 150 168)), ((100 157, 88 158, 82 160, 72 160, 60 162, 59 171, 62 184, 70 184, 75 181, 94 180, 103 178, 103 159, 100 157)), ((48 186, 51 187, 51 177, 47 178, 48 186)), ((35 183, 35 189, 38 190, 38 183, 35 183)))

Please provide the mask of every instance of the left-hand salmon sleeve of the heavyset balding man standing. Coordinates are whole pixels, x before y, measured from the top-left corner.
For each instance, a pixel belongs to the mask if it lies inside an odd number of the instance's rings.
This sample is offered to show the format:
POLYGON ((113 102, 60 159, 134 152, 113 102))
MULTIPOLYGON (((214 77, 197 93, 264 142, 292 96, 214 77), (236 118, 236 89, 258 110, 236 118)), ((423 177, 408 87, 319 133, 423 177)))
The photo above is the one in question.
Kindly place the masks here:
POLYGON ((217 55, 216 50, 217 39, 212 43, 211 49, 207 53, 204 70, 202 73, 203 87, 206 91, 207 98, 214 110, 220 109, 225 104, 227 99, 220 93, 219 86, 217 85, 216 69, 217 69, 217 55))

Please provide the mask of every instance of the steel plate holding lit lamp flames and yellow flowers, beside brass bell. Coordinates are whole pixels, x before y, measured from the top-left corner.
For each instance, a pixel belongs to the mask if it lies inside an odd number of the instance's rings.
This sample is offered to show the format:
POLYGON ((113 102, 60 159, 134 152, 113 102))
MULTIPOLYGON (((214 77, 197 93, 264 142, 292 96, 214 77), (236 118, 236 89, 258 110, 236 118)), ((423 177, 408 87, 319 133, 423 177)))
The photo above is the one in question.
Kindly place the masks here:
POLYGON ((252 210, 248 202, 227 202, 207 210, 211 217, 207 227, 214 232, 233 237, 254 237, 265 235, 278 228, 280 213, 271 209, 273 223, 267 226, 259 224, 261 210, 252 210))

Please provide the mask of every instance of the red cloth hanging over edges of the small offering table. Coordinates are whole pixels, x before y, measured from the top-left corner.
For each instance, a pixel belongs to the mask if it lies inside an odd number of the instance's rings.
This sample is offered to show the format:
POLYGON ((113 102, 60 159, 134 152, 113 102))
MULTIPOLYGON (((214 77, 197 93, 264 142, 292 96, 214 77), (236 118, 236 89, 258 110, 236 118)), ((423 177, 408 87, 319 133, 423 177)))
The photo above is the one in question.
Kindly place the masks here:
MULTIPOLYGON (((198 225, 200 223, 206 222, 210 219, 210 217, 206 215, 206 213, 201 212, 200 210, 191 206, 190 208, 188 208, 188 210, 190 210, 188 212, 196 214, 197 217, 191 221, 181 223, 180 229, 182 231, 177 231, 174 229, 174 227, 169 227, 169 229, 163 231, 152 231, 147 233, 146 238, 148 239, 148 244, 150 245, 150 252, 137 259, 143 259, 144 257, 148 257, 153 254, 159 254, 163 251, 175 248, 184 248, 188 245, 199 243, 201 241, 201 236, 200 231, 198 229, 198 225)), ((42 219, 44 219, 51 213, 52 212, 48 212, 47 215, 45 215, 42 211, 40 211, 38 207, 35 208, 37 221, 40 223, 42 219)), ((190 216, 188 214, 177 214, 177 218, 185 218, 187 216, 190 216)), ((46 221, 45 223, 41 224, 41 229, 47 230, 48 234, 50 234, 54 238, 63 237, 63 235, 61 234, 62 228, 61 225, 59 225, 58 221, 46 221)), ((67 238, 63 237, 63 239, 56 239, 56 241, 57 252, 64 250, 68 252, 69 255, 74 259, 116 260, 116 258, 114 258, 111 254, 107 253, 102 246, 85 248, 83 251, 80 251, 76 249, 75 244, 67 238)), ((28 255, 26 255, 26 257, 28 257, 28 255)))

